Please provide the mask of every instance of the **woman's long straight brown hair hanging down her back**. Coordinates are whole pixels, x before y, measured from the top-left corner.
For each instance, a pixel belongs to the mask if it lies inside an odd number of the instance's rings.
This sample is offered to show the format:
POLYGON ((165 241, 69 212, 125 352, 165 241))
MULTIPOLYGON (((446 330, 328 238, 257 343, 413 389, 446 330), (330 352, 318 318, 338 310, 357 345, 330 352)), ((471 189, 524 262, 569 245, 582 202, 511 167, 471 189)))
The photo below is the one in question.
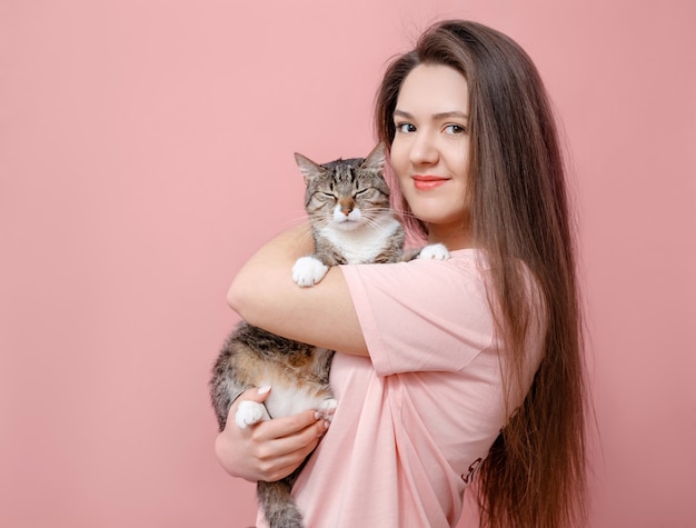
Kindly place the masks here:
MULTIPOLYGON (((536 67, 510 38, 476 22, 438 22, 387 68, 375 123, 379 140, 388 146, 400 87, 421 63, 449 66, 467 80, 471 233, 491 269, 489 299, 508 356, 501 361, 508 396, 523 379, 534 318, 546 318, 543 359, 531 389, 477 479, 481 526, 584 526, 583 321, 573 217, 549 99, 536 67), (519 260, 538 285, 536 306, 519 260)), ((408 212, 408 205, 404 207, 408 212)), ((409 219, 427 232, 427 226, 407 215, 409 219)))

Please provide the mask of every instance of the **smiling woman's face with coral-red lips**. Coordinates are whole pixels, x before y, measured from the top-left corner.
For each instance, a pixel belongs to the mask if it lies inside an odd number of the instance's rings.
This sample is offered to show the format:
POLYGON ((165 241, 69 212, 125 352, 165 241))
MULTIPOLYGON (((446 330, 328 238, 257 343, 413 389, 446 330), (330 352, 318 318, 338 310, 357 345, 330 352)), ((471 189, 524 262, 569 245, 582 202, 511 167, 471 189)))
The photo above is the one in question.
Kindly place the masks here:
POLYGON ((467 81, 454 68, 420 64, 404 80, 391 166, 411 212, 428 223, 431 242, 461 246, 466 238, 468 116, 467 81))

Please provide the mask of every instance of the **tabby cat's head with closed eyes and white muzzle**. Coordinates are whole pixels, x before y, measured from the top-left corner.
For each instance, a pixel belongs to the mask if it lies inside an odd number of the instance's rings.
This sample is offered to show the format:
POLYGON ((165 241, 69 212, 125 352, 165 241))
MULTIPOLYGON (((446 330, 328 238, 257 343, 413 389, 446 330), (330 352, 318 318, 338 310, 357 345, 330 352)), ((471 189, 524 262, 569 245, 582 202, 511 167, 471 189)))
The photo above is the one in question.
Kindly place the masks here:
POLYGON ((318 165, 296 153, 305 178, 305 208, 312 225, 350 230, 376 225, 390 215, 389 187, 384 178, 385 143, 367 158, 338 159, 318 165))

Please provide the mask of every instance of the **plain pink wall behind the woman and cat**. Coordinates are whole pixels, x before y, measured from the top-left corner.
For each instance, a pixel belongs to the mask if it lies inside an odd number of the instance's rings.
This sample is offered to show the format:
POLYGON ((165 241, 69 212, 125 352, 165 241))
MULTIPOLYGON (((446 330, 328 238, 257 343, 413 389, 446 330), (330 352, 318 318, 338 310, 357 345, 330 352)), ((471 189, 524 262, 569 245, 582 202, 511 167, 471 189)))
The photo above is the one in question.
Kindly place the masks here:
POLYGON ((518 40, 563 117, 590 526, 696 526, 696 3, 241 3, 0 1, 0 526, 252 522, 212 449, 227 286, 302 215, 292 152, 367 153, 386 59, 444 17, 518 40))

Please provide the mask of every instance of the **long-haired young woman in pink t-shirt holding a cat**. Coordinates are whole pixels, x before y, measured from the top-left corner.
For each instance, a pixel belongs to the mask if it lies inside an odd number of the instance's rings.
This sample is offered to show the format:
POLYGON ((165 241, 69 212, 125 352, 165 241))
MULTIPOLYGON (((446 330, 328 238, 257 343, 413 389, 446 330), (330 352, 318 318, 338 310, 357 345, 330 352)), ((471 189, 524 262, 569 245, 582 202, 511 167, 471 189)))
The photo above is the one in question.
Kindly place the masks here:
POLYGON ((312 411, 246 430, 229 420, 220 462, 274 480, 316 448, 294 488, 309 527, 455 526, 471 482, 485 526, 583 526, 571 219, 536 68, 495 30, 439 22, 388 67, 376 127, 405 218, 451 258, 337 267, 301 289, 288 270, 311 250, 307 226, 262 247, 230 306, 337 350, 339 406, 326 436, 312 411))

